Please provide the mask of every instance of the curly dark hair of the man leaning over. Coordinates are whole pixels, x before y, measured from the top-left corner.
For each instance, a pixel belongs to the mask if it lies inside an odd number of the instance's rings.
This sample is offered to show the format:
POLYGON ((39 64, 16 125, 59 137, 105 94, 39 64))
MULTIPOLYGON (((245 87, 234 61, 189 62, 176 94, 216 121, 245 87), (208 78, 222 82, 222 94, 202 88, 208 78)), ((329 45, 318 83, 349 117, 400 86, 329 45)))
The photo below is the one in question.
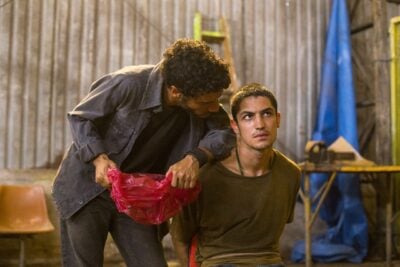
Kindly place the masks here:
POLYGON ((164 51, 161 70, 167 86, 184 96, 218 92, 231 83, 228 64, 204 42, 178 39, 164 51))

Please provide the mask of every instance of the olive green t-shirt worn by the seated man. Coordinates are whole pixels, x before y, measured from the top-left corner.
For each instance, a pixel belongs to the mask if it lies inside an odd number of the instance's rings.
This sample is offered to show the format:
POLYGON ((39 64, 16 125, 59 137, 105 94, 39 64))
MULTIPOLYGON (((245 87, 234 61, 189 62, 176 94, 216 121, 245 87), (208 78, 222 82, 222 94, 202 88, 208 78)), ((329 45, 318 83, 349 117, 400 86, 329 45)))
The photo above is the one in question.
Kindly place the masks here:
POLYGON ((282 262, 279 239, 293 220, 300 169, 274 153, 271 171, 262 176, 241 176, 219 162, 201 169, 199 198, 173 219, 170 230, 186 243, 197 235, 202 267, 282 262))

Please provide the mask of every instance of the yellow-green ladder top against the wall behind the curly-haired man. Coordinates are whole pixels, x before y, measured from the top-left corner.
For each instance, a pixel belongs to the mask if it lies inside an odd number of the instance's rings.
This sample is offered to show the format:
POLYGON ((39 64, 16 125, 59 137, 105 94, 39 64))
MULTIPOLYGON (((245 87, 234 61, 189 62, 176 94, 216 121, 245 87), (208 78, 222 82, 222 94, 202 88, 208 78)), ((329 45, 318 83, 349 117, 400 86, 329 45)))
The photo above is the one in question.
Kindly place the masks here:
POLYGON ((217 25, 214 25, 216 29, 205 30, 203 29, 202 15, 200 12, 196 12, 193 21, 193 37, 195 40, 222 45, 223 59, 225 63, 229 64, 229 74, 231 77, 229 94, 232 94, 238 89, 238 83, 232 56, 229 26, 224 17, 220 17, 216 22, 217 25))

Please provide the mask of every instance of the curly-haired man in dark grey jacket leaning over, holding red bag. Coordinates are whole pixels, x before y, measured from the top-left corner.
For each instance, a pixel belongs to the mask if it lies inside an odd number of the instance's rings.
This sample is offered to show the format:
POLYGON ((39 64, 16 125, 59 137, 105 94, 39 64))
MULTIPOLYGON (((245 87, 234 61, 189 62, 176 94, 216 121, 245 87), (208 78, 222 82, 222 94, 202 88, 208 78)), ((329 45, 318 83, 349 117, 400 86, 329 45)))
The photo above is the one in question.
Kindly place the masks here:
POLYGON ((92 84, 68 113, 73 143, 53 185, 64 266, 103 266, 108 233, 127 266, 166 266, 158 227, 117 211, 107 169, 171 173, 172 186, 193 187, 199 167, 234 145, 218 102, 229 84, 227 65, 189 39, 167 48, 157 65, 126 67, 92 84))

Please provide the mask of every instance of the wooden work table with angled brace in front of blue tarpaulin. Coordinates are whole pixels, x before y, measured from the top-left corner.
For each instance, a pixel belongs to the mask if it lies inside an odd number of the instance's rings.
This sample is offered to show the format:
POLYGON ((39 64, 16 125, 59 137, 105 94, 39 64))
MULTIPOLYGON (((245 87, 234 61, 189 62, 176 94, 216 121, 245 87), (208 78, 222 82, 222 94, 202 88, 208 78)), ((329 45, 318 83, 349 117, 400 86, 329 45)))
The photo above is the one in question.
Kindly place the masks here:
POLYGON ((305 225, 305 254, 306 254, 306 266, 312 266, 311 256, 311 227, 318 216, 318 212, 324 202, 329 190, 335 181, 337 173, 385 173, 386 182, 388 187, 388 196, 386 201, 386 266, 391 266, 391 255, 392 255, 392 219, 393 219, 393 207, 392 207, 392 196, 393 196, 393 179, 391 174, 400 173, 400 166, 350 166, 350 165, 335 165, 335 164, 313 164, 310 162, 300 163, 304 174, 303 188, 300 190, 300 197, 304 203, 304 225, 305 225), (317 201, 317 206, 312 212, 311 204, 313 200, 310 194, 310 174, 311 173, 330 173, 329 179, 325 185, 321 187, 320 197, 317 201))

